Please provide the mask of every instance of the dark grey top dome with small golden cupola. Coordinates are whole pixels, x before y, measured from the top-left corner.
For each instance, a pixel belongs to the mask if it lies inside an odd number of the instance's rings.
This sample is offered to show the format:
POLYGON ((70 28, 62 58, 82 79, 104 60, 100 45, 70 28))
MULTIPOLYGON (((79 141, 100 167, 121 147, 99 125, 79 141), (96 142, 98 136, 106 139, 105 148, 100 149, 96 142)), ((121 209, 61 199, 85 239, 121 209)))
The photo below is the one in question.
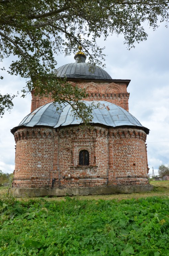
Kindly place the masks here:
POLYGON ((111 76, 102 68, 95 67, 95 70, 91 72, 89 70, 89 64, 85 63, 86 56, 81 51, 82 47, 79 47, 79 52, 76 53, 74 59, 75 63, 69 63, 56 69, 58 77, 68 78, 82 78, 82 79, 112 79, 111 76))

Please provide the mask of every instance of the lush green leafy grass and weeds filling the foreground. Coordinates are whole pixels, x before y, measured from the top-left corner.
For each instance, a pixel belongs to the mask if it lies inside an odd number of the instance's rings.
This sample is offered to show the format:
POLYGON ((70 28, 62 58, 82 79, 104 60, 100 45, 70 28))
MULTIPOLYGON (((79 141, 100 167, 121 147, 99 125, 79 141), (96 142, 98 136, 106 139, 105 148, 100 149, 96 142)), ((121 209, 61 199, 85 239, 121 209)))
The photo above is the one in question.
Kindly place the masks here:
POLYGON ((169 197, 0 200, 0 255, 167 256, 169 197))

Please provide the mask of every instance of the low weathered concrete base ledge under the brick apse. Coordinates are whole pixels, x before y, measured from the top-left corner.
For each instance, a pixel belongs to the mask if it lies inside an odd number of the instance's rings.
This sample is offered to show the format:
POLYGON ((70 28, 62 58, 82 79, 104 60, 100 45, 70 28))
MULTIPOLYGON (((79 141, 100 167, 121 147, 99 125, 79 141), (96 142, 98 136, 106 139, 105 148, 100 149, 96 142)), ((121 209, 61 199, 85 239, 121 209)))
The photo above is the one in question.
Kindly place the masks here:
POLYGON ((42 196, 73 196, 73 195, 100 195, 115 193, 137 193, 153 190, 152 185, 135 186, 97 186, 97 187, 72 187, 72 188, 11 188, 10 191, 15 197, 42 197, 42 196))

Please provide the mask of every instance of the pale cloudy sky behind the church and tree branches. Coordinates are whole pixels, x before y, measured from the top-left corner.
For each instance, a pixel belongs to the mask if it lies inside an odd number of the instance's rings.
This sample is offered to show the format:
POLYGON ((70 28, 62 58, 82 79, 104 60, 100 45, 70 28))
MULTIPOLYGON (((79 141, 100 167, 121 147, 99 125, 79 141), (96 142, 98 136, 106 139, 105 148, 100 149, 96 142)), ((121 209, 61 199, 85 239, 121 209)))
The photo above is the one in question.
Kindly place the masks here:
MULTIPOLYGON (((149 174, 158 175, 161 164, 169 164, 169 28, 165 24, 153 31, 147 27, 146 41, 135 44, 130 50, 124 45, 123 35, 110 36, 98 44, 105 46, 106 68, 112 79, 131 79, 127 87, 130 93, 129 112, 139 122, 150 129, 147 135, 147 156, 149 174)), ((74 62, 74 55, 57 56, 56 68, 74 62)), ((0 67, 9 66, 5 59, 0 67)), ((25 86, 25 80, 0 72, 0 91, 2 94, 15 94, 25 86)), ((17 126, 31 111, 31 95, 14 99, 11 113, 0 118, 0 170, 12 173, 15 169, 15 140, 10 130, 17 126)))

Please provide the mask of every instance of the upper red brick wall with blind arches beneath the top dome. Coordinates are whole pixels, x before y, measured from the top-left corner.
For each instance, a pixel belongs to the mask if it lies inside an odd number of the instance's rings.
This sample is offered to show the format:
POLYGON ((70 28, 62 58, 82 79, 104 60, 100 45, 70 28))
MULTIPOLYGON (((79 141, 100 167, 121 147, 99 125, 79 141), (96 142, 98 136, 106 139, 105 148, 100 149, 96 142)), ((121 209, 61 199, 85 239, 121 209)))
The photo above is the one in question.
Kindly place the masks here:
MULTIPOLYGON (((74 85, 77 85, 81 88, 86 88, 86 92, 88 93, 88 97, 84 100, 105 100, 111 103, 114 103, 128 111, 128 98, 129 93, 127 92, 126 84, 115 84, 115 83, 86 83, 79 82, 74 83, 70 82, 74 85)), ((31 112, 45 105, 46 103, 52 102, 52 95, 50 94, 48 97, 35 97, 34 91, 32 91, 32 105, 31 112)))

